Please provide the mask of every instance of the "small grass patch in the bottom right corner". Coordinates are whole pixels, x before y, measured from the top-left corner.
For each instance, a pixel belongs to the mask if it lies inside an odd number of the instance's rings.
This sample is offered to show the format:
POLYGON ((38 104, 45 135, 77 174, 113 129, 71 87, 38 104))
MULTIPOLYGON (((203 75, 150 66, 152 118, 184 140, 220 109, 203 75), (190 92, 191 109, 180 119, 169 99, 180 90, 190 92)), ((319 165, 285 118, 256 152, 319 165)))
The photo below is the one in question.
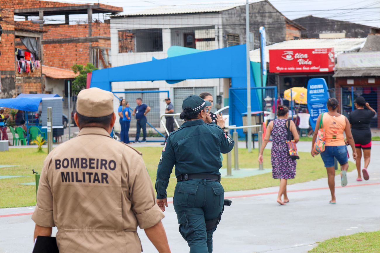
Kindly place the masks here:
POLYGON ((380 252, 380 231, 340 236, 321 242, 310 253, 380 252))

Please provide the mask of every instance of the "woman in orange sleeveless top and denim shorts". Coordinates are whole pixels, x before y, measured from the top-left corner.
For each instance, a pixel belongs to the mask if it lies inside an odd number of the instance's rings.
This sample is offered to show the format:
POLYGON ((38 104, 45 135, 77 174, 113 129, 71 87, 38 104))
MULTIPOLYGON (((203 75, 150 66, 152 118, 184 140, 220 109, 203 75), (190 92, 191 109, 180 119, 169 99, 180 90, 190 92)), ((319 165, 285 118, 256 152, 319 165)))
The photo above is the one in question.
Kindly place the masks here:
MULTIPOLYGON (((335 168, 334 158, 340 163, 340 170, 342 170, 342 186, 347 185, 347 170, 348 170, 348 157, 347 146, 344 141, 343 132, 346 133, 348 143, 352 148, 352 157, 355 160, 358 156, 356 154, 355 142, 351 134, 350 123, 346 116, 337 112, 339 109, 339 103, 336 98, 330 98, 327 101, 328 112, 323 114, 322 125, 325 129, 326 145, 325 151, 321 153, 323 163, 327 170, 328 184, 331 192, 330 204, 336 204, 335 198, 335 168)), ((311 155, 314 157, 317 155, 314 153, 313 145, 317 138, 318 129, 321 121, 321 115, 318 116, 317 124, 313 135, 311 155)))

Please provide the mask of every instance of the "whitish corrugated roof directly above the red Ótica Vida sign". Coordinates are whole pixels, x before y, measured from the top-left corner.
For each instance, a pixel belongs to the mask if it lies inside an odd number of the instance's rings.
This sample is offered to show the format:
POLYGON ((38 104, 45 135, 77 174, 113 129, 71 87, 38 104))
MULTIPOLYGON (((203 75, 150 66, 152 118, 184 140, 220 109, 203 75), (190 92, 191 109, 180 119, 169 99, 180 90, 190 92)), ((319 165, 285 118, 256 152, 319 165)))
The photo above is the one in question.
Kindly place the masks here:
MULTIPOLYGON (((269 49, 314 49, 334 48, 335 56, 344 52, 357 52, 363 47, 367 38, 343 39, 293 39, 266 46, 265 59, 269 62, 269 49)), ((261 62, 260 49, 249 52, 251 61, 261 62)))

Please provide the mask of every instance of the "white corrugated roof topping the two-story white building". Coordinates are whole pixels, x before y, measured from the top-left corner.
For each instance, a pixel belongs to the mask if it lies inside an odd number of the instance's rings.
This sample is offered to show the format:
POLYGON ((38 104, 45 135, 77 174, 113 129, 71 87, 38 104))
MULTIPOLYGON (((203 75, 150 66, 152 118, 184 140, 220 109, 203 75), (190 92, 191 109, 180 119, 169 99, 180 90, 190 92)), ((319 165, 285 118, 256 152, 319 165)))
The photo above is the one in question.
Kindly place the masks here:
MULTIPOLYGON (((256 2, 261 2, 258 0, 256 2)), ((189 14, 189 13, 212 13, 225 11, 228 9, 242 6, 244 3, 202 3, 188 5, 165 5, 147 9, 138 13, 115 15, 113 17, 128 17, 128 16, 152 16, 152 15, 170 15, 170 14, 189 14)))

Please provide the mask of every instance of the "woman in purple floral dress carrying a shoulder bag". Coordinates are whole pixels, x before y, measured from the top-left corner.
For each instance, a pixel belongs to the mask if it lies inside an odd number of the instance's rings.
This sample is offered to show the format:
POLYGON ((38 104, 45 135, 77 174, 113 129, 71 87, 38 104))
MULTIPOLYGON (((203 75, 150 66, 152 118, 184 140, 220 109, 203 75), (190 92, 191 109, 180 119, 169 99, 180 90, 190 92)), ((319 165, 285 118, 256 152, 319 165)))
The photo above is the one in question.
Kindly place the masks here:
MULTIPOLYGON (((280 179, 280 190, 277 197, 277 203, 279 205, 285 205, 289 202, 289 198, 286 192, 286 186, 288 179, 293 179, 296 176, 296 160, 291 159, 286 144, 287 129, 286 122, 289 116, 289 109, 284 105, 277 107, 277 119, 271 121, 266 129, 266 135, 261 145, 259 154, 259 163, 263 163, 263 152, 266 144, 269 141, 269 137, 272 134, 272 176, 274 179, 280 179), (282 200, 283 195, 283 200, 282 200)), ((297 143, 299 141, 296 125, 293 121, 290 121, 290 131, 293 134, 293 139, 297 143)))

